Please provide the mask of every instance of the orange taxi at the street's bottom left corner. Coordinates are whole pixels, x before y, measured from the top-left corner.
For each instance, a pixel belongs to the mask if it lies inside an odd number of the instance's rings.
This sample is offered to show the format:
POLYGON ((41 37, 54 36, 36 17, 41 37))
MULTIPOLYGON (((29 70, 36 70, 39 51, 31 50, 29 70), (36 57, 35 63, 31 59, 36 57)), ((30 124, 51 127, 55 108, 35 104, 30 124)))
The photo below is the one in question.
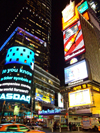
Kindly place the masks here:
POLYGON ((24 124, 20 123, 3 123, 0 124, 0 132, 1 131, 10 131, 10 132, 26 132, 26 133, 45 133, 40 130, 32 130, 24 124))

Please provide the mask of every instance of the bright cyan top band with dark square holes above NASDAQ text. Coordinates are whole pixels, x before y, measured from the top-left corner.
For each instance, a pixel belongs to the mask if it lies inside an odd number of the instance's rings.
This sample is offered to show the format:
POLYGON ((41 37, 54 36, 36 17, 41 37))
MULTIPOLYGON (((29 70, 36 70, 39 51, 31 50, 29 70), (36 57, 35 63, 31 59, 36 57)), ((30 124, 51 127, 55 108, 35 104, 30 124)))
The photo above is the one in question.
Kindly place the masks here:
MULTIPOLYGON (((11 63, 28 65, 30 66, 31 69, 33 69, 34 52, 22 46, 11 47, 7 51, 5 64, 11 64, 11 63)), ((23 72, 23 70, 21 72, 23 72)))

